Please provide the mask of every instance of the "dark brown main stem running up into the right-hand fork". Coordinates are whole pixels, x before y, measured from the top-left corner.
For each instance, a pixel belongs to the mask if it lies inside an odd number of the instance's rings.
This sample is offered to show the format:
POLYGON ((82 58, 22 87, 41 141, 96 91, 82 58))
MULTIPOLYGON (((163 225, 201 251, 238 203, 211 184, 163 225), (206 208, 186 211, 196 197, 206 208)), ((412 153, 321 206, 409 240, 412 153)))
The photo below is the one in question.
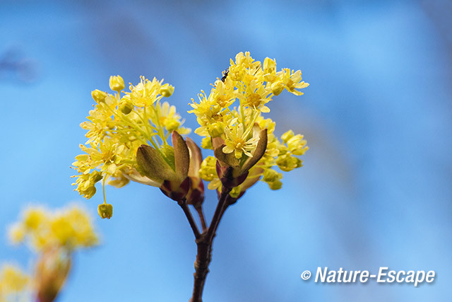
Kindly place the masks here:
POLYGON ((210 260, 212 260, 212 244, 213 237, 217 231, 218 224, 225 213, 228 206, 228 196, 231 189, 222 187, 220 198, 218 199, 217 208, 213 214, 212 222, 207 230, 203 231, 201 237, 196 240, 197 255, 195 261, 195 273, 194 273, 194 285, 193 296, 191 296, 190 302, 202 302, 204 284, 206 283, 206 277, 209 272, 210 260))

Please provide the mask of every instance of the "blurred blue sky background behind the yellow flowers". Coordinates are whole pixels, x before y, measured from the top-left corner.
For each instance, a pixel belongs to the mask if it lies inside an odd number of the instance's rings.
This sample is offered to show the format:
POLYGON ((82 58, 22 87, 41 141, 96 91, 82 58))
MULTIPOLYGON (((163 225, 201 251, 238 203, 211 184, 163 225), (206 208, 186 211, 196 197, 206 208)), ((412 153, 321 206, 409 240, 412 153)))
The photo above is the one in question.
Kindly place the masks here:
MULTIPOLYGON (((76 254, 59 301, 188 301, 196 246, 153 187, 73 192, 79 124, 110 75, 164 78, 186 113, 237 52, 301 69, 311 86, 270 104, 278 134, 305 135, 283 189, 227 210, 204 301, 446 301, 452 291, 451 1, 0 1, 0 230, 28 204, 78 201, 102 245, 76 254), (315 284, 331 269, 434 270, 433 284, 315 284)), ((200 141, 196 134, 192 134, 200 141)), ((204 152, 207 155, 207 152, 204 152)), ((215 207, 208 194, 207 216, 215 207)), ((0 240, 0 262, 32 252, 0 240)))

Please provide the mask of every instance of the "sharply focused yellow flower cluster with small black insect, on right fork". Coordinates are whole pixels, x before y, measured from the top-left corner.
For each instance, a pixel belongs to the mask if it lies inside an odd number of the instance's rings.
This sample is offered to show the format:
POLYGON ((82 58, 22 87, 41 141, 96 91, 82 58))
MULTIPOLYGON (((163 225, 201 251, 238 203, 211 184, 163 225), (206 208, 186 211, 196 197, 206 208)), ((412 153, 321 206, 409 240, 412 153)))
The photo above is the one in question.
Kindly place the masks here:
MULTIPOLYGON (((308 149, 303 136, 288 131, 278 139, 273 134, 275 123, 263 118, 262 113, 270 111, 266 105, 273 100, 273 96, 284 90, 302 95, 298 89, 307 86, 309 84, 302 81, 301 71, 277 71, 274 59, 267 57, 261 64, 255 61, 249 52, 240 52, 235 61, 230 60, 230 67, 222 79, 215 81, 209 95, 201 91, 198 94, 198 103, 192 99, 193 110, 189 112, 196 115, 201 126, 195 131, 204 137, 201 146, 215 149, 215 142, 222 144, 222 153, 233 153, 239 165, 243 165, 247 158, 253 156, 258 145, 259 132, 267 129, 266 151, 249 170, 242 185, 234 187, 231 192, 233 197, 239 196, 247 187, 254 185, 261 176, 270 189, 278 190, 282 185, 280 179, 283 175, 273 170, 273 167, 278 166, 280 170, 290 171, 302 165, 302 161, 296 156, 303 155, 308 149)), ((208 157, 201 165, 201 178, 210 181, 210 190, 220 186, 215 164, 215 159, 208 157)))

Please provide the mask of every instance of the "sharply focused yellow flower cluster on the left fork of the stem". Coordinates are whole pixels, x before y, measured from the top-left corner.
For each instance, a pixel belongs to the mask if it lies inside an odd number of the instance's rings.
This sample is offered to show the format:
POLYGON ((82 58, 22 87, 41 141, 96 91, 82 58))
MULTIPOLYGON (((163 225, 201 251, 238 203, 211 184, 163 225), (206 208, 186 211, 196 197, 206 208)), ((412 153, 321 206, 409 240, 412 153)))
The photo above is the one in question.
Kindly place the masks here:
MULTIPOLYGON (((88 141, 81 149, 84 152, 76 156, 73 168, 78 171, 76 190, 89 199, 96 192, 95 184, 103 180, 109 185, 123 187, 129 180, 160 186, 139 173, 136 151, 142 144, 153 146, 168 163, 172 162, 171 148, 167 144, 173 130, 179 134, 188 134, 190 129, 182 127, 183 120, 176 108, 167 102, 160 103, 163 97, 169 97, 174 87, 162 81, 152 81, 141 77, 136 86, 130 84, 129 92, 121 76, 110 77, 109 86, 113 94, 95 90, 92 93, 96 102, 90 110, 88 121, 81 127, 88 132, 88 141)), ((104 194, 105 199, 105 194, 104 194)))

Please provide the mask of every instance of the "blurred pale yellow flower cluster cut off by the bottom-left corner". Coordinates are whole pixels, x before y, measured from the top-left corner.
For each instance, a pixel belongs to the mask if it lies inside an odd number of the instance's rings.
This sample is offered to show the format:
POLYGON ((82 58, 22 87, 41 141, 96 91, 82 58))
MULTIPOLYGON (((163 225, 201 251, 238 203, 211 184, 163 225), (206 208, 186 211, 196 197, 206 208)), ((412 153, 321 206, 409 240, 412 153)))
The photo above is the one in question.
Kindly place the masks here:
POLYGON ((16 266, 3 265, 0 270, 0 302, 23 301, 30 277, 16 266))

